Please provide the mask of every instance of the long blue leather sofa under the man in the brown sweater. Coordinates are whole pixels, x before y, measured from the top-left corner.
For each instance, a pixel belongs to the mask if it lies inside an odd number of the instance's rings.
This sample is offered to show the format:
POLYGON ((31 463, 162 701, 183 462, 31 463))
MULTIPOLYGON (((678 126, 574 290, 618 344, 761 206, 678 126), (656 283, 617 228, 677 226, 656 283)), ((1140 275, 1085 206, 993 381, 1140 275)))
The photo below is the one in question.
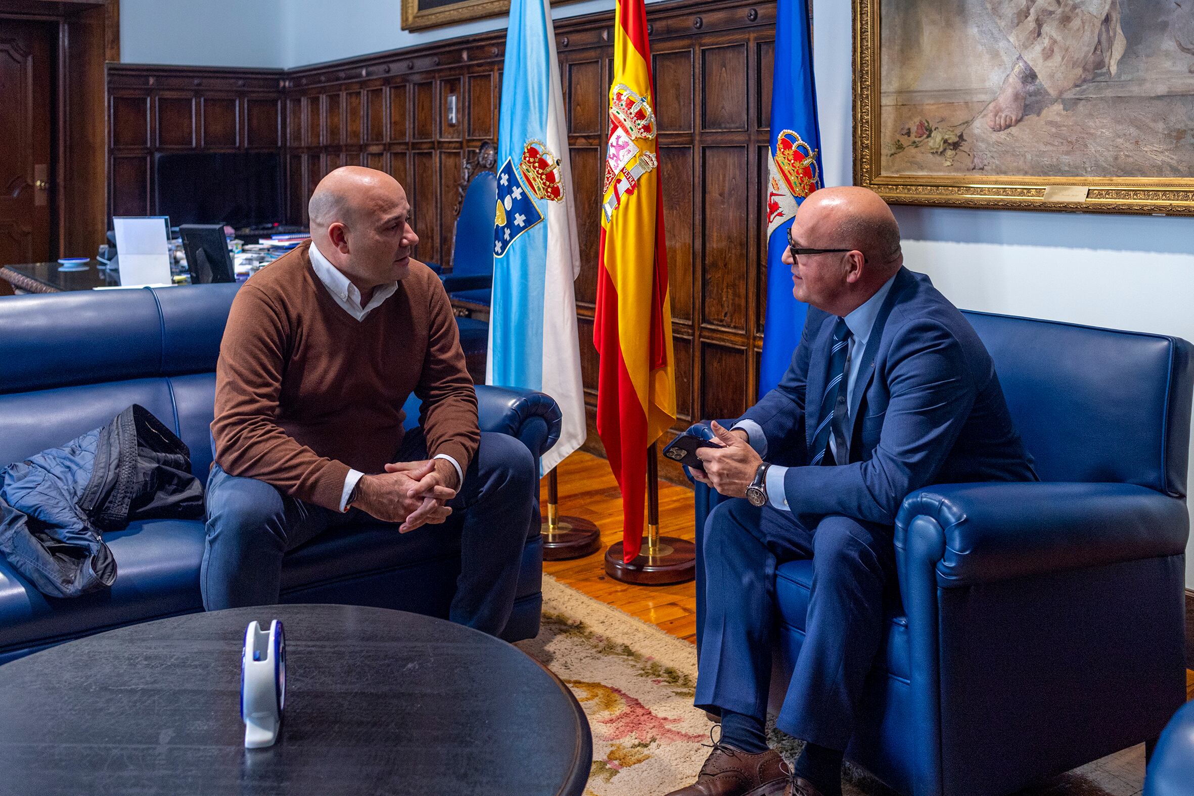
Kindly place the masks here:
MULTIPOLYGON (((98 427, 140 403, 174 428, 207 480, 215 364, 235 284, 0 298, 0 467, 98 427)), ((542 393, 476 388, 481 428, 537 457, 559 436, 542 393)), ((406 406, 418 421, 418 401, 406 406)), ((37 592, 0 556, 0 664, 119 625, 202 610, 199 520, 149 520, 105 533, 118 574, 75 599, 37 592)), ((441 533, 376 524, 325 533, 285 559, 285 603, 347 603, 447 616, 458 547, 441 533)), ((533 529, 505 637, 538 631, 542 541, 533 529)))

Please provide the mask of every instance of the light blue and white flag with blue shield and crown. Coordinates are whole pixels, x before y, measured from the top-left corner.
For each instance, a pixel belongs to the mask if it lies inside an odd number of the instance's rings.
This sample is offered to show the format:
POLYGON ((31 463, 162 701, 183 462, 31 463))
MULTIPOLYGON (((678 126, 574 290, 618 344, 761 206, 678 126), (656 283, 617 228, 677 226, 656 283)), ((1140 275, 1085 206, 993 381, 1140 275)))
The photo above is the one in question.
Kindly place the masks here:
POLYGON ((485 381, 541 390, 560 405, 564 427, 543 455, 543 475, 585 439, 572 284, 580 249, 549 0, 510 4, 499 119, 485 381))

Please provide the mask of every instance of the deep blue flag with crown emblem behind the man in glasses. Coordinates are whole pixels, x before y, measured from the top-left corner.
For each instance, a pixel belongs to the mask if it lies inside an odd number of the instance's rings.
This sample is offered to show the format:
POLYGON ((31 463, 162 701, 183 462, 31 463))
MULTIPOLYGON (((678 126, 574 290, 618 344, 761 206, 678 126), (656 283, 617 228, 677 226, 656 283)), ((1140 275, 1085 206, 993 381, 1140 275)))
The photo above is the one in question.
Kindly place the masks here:
POLYGON ((778 384, 787 371, 808 310, 793 297, 792 270, 781 260, 796 208, 821 186, 820 132, 806 0, 778 0, 771 86, 771 152, 764 186, 767 320, 758 374, 759 396, 778 384))

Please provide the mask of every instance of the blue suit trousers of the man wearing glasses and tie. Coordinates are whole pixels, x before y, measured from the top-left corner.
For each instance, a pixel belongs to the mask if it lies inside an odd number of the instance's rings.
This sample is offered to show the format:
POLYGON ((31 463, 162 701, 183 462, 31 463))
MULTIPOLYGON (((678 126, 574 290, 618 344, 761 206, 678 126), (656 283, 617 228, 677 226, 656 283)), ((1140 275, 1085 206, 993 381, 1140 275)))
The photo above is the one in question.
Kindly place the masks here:
POLYGON ((776 718, 789 735, 844 751, 879 652, 884 593, 894 584, 892 527, 847 517, 794 517, 726 500, 704 524, 704 624, 698 708, 767 717, 775 568, 812 559, 805 642, 776 718), (804 520, 804 522, 802 522, 804 520))

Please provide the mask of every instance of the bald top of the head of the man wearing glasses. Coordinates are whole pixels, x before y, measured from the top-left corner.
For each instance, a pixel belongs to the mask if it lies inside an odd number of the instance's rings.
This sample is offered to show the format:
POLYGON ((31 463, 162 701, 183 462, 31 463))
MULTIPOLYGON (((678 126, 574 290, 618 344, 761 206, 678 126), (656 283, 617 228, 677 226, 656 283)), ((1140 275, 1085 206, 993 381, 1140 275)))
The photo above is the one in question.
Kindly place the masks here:
POLYGON ((806 208, 813 228, 830 241, 824 247, 856 248, 872 267, 887 277, 903 264, 899 224, 892 209, 870 189, 854 185, 820 189, 805 199, 801 212, 806 208))

